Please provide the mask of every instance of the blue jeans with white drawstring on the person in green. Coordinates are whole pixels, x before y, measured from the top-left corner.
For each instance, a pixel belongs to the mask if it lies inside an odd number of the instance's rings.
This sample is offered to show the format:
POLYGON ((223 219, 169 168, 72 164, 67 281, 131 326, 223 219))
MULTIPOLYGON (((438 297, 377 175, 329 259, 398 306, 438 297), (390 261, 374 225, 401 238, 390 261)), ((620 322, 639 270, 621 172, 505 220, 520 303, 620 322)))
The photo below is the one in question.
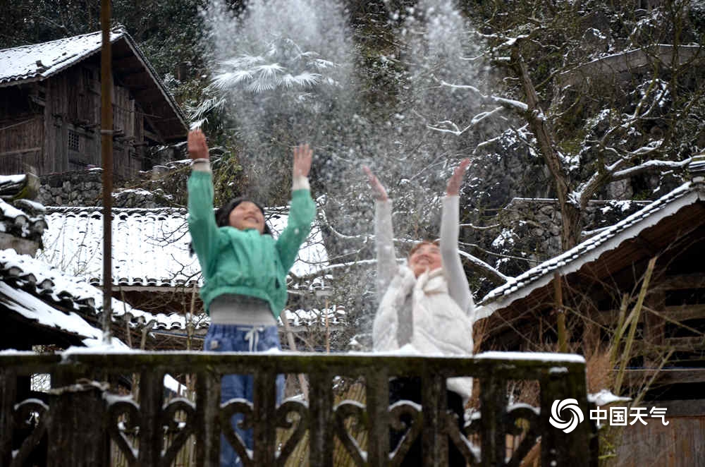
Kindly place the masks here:
MULTIPOLYGON (((203 341, 203 350, 212 352, 262 352, 270 348, 281 349, 276 326, 210 325, 203 341)), ((252 402, 252 375, 223 375, 221 380, 221 403, 231 399, 247 399, 252 402)), ((276 404, 281 404, 284 394, 284 375, 276 377, 276 404)), ((230 423, 245 447, 252 449, 252 429, 238 427, 243 415, 234 415, 230 423)), ((240 467, 242 462, 228 440, 221 434, 221 467, 240 467)))

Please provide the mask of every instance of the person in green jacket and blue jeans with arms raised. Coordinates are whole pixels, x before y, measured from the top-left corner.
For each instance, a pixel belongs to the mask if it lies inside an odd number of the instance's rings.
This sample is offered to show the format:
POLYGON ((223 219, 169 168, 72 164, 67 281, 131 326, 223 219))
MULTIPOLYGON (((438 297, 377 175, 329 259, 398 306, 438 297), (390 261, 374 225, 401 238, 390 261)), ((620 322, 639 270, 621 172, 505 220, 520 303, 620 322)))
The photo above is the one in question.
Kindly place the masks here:
MULTIPOLYGON (((267 351, 281 348, 276 320, 286 305, 286 274, 311 230, 316 205, 308 173, 312 151, 294 149, 293 188, 288 224, 274 240, 264 222, 264 210, 252 200, 236 198, 213 214, 213 181, 206 138, 200 130, 188 135, 192 174, 188 179, 188 226, 203 275, 201 298, 211 325, 205 351, 267 351)), ((225 375, 221 401, 252 401, 252 375, 225 375)), ((283 376, 277 377, 277 400, 283 396, 283 376)), ((252 430, 235 433, 252 449, 252 430)), ((221 467, 242 465, 221 436, 221 467)))

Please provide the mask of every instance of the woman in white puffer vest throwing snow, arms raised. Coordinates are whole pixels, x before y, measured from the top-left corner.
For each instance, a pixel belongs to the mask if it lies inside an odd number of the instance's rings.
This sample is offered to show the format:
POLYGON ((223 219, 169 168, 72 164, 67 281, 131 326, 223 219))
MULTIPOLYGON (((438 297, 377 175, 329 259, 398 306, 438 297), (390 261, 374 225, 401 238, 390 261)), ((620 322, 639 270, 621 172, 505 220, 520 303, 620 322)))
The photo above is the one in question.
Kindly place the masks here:
MULTIPOLYGON (((463 160, 448 181, 441 214, 441 240, 417 243, 399 265, 394 254, 392 203, 384 186, 368 167, 375 199, 375 243, 377 250, 377 291, 379 308, 372 327, 375 351, 396 351, 424 355, 472 355, 472 320, 474 303, 458 253, 458 192, 469 159, 463 160)), ((471 378, 450 378, 448 408, 463 423, 464 404, 472 394, 471 378)), ((390 403, 410 400, 421 403, 418 377, 400 377, 390 381, 390 403)), ((401 433, 391 432, 394 449, 401 433)), ((416 465, 422 459, 422 443, 417 439, 407 452, 403 466, 416 465)), ((465 466, 462 454, 452 442, 448 444, 448 465, 465 466)))

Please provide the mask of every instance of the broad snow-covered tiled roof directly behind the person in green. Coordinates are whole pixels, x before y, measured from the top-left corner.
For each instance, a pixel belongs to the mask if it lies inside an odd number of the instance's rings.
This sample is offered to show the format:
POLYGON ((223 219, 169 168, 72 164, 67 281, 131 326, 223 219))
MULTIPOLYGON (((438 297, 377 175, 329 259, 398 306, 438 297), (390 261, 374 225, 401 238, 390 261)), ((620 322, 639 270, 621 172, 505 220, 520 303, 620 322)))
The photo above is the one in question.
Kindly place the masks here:
MULTIPOLYGON (((274 235, 286 226, 286 208, 266 210, 274 235)), ((200 265, 189 253, 186 210, 121 208, 113 210, 113 284, 149 287, 200 286, 200 265)), ((47 207, 44 250, 49 264, 102 284, 103 218, 100 207, 47 207)), ((292 268, 298 277, 328 264, 319 227, 314 226, 292 268)), ((318 283, 314 281, 312 288, 318 283)))

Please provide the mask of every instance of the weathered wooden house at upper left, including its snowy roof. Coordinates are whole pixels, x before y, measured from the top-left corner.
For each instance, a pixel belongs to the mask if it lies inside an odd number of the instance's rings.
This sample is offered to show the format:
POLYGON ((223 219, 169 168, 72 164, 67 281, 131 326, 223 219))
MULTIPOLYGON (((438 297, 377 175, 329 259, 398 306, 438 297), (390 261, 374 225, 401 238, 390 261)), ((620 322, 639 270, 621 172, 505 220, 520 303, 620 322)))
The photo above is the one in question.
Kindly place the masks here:
MULTIPOLYGON (((101 164, 101 32, 0 50, 0 174, 101 164)), ((185 116, 128 33, 111 32, 114 171, 149 169, 147 147, 184 140, 185 116)))

